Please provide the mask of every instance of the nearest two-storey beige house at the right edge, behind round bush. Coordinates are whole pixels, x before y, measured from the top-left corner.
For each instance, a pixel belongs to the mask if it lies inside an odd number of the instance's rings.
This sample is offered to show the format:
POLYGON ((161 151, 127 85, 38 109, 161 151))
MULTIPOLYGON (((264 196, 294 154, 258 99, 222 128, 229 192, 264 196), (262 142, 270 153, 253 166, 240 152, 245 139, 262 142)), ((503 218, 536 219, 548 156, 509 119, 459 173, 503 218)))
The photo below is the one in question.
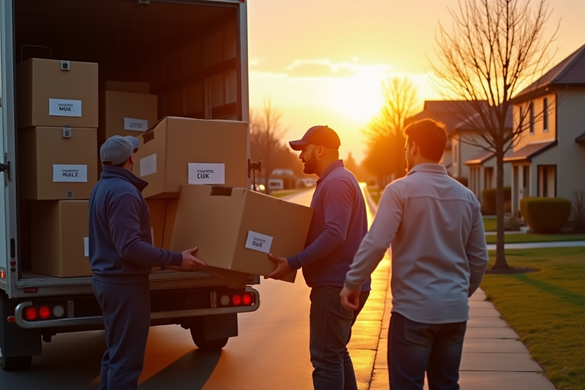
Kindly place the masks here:
POLYGON ((512 212, 525 196, 573 200, 585 189, 585 46, 514 97, 524 130, 504 161, 512 166, 512 212))

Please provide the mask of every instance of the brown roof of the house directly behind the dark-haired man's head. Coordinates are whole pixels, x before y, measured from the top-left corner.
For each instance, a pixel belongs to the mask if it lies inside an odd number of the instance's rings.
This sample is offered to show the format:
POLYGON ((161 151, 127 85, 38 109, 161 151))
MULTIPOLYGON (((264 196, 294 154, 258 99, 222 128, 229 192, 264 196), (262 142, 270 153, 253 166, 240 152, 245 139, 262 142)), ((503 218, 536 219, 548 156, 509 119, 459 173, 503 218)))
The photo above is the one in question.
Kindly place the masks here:
POLYGON ((457 123, 475 111, 473 103, 466 100, 426 100, 422 111, 407 118, 405 125, 415 120, 431 118, 445 123, 447 132, 453 133, 457 123))

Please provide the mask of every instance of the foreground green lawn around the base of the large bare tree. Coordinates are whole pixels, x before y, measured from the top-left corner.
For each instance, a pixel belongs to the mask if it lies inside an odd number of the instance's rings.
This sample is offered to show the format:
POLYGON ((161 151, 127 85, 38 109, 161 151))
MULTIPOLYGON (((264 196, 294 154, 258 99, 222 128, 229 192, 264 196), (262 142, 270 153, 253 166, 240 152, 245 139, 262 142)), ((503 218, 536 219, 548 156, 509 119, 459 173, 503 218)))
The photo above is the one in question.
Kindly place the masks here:
POLYGON ((559 390, 585 390, 585 247, 506 253, 541 271, 486 275, 481 287, 559 390))

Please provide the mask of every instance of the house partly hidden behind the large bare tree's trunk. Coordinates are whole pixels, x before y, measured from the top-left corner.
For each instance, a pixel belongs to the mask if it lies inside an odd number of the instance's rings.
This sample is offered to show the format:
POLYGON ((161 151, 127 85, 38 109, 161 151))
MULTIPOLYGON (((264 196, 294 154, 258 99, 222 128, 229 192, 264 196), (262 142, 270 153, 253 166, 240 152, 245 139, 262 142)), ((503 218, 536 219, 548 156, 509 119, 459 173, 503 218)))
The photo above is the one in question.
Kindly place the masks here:
MULTIPOLYGON (((468 178, 467 187, 476 194, 477 198, 481 201, 481 192, 484 189, 495 188, 495 174, 497 172, 495 153, 493 151, 487 151, 478 146, 473 146, 465 143, 466 140, 473 140, 474 143, 487 146, 487 143, 479 135, 477 135, 477 126, 472 126, 475 118, 479 115, 474 115, 464 122, 459 123, 455 126, 455 132, 453 133, 453 144, 459 145, 460 156, 457 161, 462 161, 463 164, 457 164, 453 176, 455 174, 463 175, 468 178)), ((512 130, 512 108, 508 110, 506 116, 505 129, 508 131, 512 130)), ((512 153, 512 150, 508 150, 506 156, 512 153)), ((510 165, 504 165, 504 187, 510 187, 512 183, 512 174, 510 165)))

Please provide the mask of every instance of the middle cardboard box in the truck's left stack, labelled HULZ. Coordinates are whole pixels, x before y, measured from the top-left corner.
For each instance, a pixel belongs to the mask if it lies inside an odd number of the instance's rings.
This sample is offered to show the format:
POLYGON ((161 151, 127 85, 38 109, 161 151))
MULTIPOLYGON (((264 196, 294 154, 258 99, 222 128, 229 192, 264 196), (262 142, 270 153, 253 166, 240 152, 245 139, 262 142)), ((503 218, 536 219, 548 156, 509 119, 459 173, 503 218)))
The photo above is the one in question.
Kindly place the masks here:
POLYGON ((20 198, 89 199, 98 177, 97 129, 29 127, 19 130, 20 198))

